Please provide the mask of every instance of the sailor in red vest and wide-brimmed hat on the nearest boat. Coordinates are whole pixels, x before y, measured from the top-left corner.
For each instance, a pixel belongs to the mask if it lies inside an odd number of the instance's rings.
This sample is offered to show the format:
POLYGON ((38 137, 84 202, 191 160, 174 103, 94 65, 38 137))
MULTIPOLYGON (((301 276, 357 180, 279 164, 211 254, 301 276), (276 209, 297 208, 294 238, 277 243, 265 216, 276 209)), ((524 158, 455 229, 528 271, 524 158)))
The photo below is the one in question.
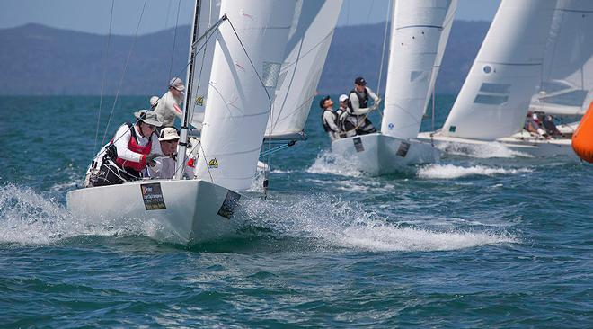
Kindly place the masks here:
POLYGON ((155 158, 162 156, 155 128, 161 127, 153 111, 140 110, 134 113, 136 123, 119 127, 115 136, 103 147, 99 155, 101 166, 98 173, 89 178, 89 186, 104 186, 136 181, 142 178, 146 165, 156 165, 155 158))

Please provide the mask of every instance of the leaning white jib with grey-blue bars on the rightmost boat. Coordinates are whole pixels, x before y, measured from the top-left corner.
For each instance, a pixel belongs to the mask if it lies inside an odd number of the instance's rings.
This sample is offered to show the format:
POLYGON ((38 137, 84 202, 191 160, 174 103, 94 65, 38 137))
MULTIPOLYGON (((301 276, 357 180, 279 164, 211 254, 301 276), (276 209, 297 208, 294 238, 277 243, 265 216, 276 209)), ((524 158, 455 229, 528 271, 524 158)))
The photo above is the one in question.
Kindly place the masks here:
POLYGON ((556 0, 502 0, 442 134, 492 140, 516 133, 538 90, 556 0))

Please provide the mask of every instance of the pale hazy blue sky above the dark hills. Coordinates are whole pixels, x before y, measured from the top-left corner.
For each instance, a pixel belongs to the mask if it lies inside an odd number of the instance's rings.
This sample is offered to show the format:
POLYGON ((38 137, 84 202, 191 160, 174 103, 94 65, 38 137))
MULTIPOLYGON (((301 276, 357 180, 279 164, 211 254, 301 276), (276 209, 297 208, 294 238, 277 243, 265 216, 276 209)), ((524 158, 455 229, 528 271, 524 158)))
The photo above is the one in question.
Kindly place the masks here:
MULTIPOLYGON (((139 33, 189 24, 193 0, 146 0, 139 33)), ((307 0, 315 1, 315 0, 307 0)), ((385 21, 389 0, 344 0, 338 25, 385 21)), ((404 0, 413 1, 413 0, 404 0)), ((145 0, 115 0, 112 32, 134 34, 145 0)), ((459 0, 457 19, 491 21, 500 0, 459 0)), ((52 27, 106 34, 111 0, 0 0, 0 29, 36 22, 52 27)))

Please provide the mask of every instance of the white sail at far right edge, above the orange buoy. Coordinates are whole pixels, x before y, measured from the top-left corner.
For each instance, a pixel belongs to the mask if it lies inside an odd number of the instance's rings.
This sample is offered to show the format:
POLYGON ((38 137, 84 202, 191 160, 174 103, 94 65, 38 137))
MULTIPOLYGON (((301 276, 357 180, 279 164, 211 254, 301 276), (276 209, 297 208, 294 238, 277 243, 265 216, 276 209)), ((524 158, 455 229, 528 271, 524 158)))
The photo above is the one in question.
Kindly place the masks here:
POLYGON ((544 58, 543 83, 532 98, 532 111, 573 115, 587 111, 593 91, 591 40, 593 1, 558 1, 544 58))

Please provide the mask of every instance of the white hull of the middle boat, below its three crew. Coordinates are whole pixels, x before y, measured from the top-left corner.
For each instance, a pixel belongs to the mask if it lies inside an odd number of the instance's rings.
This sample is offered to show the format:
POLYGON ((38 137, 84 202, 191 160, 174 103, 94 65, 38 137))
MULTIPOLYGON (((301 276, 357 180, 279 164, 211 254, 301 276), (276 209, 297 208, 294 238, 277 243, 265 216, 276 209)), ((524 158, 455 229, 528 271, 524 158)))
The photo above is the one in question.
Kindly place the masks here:
POLYGON ((332 152, 352 159, 359 170, 370 174, 402 173, 414 164, 437 162, 440 151, 430 143, 373 133, 332 141, 332 152))

